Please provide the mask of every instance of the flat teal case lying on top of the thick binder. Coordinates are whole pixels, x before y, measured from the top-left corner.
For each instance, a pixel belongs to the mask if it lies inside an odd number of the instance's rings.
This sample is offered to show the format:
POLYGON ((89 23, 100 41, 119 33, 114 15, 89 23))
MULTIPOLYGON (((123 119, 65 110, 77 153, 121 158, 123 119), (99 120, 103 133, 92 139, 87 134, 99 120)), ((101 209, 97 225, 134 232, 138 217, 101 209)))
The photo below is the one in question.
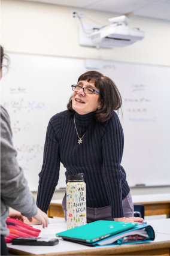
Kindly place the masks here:
POLYGON ((62 237, 63 239, 72 241, 77 240, 86 243, 94 243, 106 237, 135 228, 136 225, 138 224, 135 222, 95 221, 57 233, 56 237, 62 237))

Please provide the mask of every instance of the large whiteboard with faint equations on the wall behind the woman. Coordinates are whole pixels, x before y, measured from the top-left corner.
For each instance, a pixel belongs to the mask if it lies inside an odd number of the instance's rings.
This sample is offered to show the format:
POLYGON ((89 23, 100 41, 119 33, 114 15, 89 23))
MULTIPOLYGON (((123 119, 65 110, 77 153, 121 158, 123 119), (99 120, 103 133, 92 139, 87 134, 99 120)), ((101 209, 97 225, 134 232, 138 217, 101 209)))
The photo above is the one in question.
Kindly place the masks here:
MULTIPOLYGON (((0 83, 0 103, 11 118, 17 160, 29 188, 38 189, 45 133, 51 116, 66 110, 71 85, 86 72, 86 60, 10 53, 10 70, 0 83)), ((102 61, 98 71, 119 88, 125 150, 122 165, 134 186, 167 185, 170 180, 170 68, 102 61)), ((57 189, 65 187, 60 165, 57 189)))

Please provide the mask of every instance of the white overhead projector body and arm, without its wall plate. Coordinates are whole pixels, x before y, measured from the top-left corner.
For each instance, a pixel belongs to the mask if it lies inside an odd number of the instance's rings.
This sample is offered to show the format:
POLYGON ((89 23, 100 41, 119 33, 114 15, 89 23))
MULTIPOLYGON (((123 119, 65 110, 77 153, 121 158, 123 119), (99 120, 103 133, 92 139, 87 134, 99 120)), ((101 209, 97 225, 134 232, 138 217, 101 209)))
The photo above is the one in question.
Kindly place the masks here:
POLYGON ((129 46, 144 38, 144 31, 127 26, 129 19, 126 16, 115 17, 109 21, 113 24, 95 29, 90 34, 94 46, 105 48, 129 46))

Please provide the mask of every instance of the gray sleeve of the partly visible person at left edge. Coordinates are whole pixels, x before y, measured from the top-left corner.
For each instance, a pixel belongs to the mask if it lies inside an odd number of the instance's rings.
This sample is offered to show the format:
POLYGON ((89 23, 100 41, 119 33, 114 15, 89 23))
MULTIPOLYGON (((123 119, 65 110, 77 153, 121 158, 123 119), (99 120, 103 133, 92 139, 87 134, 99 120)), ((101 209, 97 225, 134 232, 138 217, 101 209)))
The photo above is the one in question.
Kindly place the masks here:
POLYGON ((37 214, 37 206, 23 176, 23 170, 17 163, 16 155, 10 118, 0 106, 0 197, 4 204, 19 210, 29 218, 37 214))

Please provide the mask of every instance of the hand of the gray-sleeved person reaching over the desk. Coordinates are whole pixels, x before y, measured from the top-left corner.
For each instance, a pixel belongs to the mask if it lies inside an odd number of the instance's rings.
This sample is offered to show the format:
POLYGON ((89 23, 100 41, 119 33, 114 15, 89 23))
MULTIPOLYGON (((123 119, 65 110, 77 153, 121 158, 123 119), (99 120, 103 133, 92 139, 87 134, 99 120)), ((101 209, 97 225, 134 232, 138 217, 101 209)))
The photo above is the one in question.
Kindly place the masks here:
POLYGON ((48 216, 45 212, 42 212, 40 208, 38 208, 38 212, 35 216, 32 218, 27 218, 24 221, 28 225, 41 225, 43 228, 48 227, 49 221, 48 221, 48 216))

